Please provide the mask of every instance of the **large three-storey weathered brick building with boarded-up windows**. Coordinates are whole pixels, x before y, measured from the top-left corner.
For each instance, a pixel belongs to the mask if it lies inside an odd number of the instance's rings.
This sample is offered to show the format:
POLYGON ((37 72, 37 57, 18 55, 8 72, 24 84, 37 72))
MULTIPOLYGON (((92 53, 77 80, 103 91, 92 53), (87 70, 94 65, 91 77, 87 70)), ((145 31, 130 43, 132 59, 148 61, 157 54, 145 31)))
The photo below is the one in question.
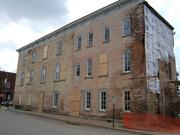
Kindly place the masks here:
POLYGON ((18 49, 15 104, 105 117, 170 114, 173 27, 144 0, 121 0, 18 49))

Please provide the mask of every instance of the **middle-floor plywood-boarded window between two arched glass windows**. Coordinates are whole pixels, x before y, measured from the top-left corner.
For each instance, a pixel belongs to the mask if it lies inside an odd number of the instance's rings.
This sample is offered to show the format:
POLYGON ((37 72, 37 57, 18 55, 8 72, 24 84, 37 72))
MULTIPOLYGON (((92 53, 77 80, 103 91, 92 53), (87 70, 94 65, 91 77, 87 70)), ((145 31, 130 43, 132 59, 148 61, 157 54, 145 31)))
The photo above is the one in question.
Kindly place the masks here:
POLYGON ((108 74, 108 55, 103 53, 99 55, 99 76, 106 76, 108 74))

